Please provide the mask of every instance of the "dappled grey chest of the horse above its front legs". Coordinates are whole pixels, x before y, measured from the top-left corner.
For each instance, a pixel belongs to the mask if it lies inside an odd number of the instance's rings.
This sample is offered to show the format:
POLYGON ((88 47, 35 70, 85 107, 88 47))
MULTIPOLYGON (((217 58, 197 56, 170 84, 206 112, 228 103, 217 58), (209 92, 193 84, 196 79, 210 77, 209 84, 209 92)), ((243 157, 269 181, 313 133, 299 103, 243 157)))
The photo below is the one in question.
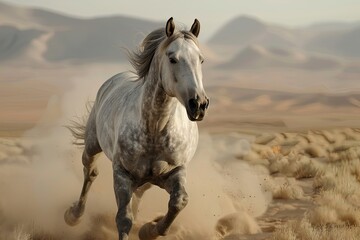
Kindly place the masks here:
POLYGON ((124 128, 116 158, 137 178, 160 176, 191 160, 197 142, 193 143, 190 135, 175 130, 150 134, 141 128, 124 128))

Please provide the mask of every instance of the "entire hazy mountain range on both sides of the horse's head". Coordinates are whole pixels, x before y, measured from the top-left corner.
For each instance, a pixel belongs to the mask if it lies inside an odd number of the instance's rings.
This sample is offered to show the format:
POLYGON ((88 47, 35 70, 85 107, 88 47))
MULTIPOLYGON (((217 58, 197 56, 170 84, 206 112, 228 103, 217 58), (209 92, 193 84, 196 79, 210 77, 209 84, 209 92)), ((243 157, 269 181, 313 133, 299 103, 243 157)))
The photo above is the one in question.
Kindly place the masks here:
MULTIPOLYGON (((0 2, 0 61, 24 55, 26 59, 50 62, 125 61, 124 47, 133 49, 147 33, 163 25, 124 16, 78 18, 0 2)), ((317 53, 360 58, 359 42, 360 23, 321 23, 290 29, 240 16, 220 28, 204 49, 214 62, 231 59, 226 63, 229 68, 237 63, 243 67, 320 69, 337 65, 337 61, 318 57, 317 53), (282 56, 291 52, 302 53, 306 60, 282 56)))

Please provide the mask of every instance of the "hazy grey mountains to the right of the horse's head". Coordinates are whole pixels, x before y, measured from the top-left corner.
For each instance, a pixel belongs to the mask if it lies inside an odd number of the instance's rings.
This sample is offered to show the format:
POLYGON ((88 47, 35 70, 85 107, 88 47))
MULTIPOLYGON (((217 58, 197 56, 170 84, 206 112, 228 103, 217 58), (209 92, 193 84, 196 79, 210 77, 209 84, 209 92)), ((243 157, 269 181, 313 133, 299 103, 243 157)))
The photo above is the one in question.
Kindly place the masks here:
POLYGON ((228 46, 233 46, 232 52, 237 52, 255 44, 265 48, 297 49, 359 58, 360 22, 329 22, 290 29, 240 16, 220 28, 208 43, 220 49, 220 52, 228 46))

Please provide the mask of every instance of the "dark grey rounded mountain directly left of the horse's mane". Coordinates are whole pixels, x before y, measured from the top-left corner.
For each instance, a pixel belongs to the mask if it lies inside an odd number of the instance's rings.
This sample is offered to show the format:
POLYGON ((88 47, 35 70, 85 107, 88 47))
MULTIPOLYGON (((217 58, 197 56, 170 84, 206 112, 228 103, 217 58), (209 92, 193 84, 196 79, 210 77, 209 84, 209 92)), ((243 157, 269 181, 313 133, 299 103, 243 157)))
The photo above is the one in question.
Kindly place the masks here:
POLYGON ((122 48, 134 48, 147 33, 160 26, 160 23, 127 17, 88 19, 56 31, 48 41, 44 57, 50 61, 124 60, 122 48))

